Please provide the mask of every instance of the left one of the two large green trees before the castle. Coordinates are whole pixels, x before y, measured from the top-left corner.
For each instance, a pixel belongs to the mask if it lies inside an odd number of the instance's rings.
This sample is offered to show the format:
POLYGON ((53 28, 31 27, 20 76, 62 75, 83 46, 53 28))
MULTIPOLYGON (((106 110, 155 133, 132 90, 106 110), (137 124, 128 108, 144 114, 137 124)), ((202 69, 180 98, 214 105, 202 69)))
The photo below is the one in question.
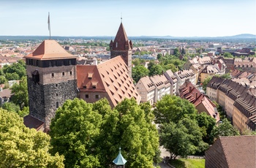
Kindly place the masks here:
POLYGON ((94 140, 99 136, 102 115, 78 98, 67 100, 56 110, 50 124, 51 153, 64 155, 66 167, 99 167, 94 140))

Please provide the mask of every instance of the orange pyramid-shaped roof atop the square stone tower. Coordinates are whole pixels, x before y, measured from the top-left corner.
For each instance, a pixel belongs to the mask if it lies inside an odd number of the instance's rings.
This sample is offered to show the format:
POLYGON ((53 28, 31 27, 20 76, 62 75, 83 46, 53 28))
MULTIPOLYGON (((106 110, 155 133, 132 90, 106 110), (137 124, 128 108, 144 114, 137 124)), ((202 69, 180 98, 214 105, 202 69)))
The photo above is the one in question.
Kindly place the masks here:
POLYGON ((64 59, 64 58, 76 58, 70 53, 67 53, 58 42, 53 39, 45 39, 33 53, 30 53, 24 58, 49 60, 49 59, 64 59))

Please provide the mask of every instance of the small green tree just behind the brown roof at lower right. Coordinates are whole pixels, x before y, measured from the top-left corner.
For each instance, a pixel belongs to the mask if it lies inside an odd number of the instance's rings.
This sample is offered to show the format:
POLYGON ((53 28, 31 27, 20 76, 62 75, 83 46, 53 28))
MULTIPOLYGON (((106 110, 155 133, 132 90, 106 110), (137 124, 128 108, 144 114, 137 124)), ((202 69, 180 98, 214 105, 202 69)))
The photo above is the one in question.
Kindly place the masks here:
POLYGON ((223 119, 222 123, 214 126, 214 129, 211 131, 211 136, 216 138, 219 137, 229 137, 239 135, 239 131, 232 126, 230 121, 227 118, 223 119))

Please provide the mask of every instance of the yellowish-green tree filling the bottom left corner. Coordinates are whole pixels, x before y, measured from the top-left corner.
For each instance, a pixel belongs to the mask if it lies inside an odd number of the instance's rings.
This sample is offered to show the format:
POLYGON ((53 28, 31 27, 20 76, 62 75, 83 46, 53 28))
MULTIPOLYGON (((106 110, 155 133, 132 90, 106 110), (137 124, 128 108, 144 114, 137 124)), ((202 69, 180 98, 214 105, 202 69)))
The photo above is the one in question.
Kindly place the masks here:
POLYGON ((50 137, 26 128, 15 112, 0 109, 0 167, 64 167, 64 156, 51 156, 50 137))

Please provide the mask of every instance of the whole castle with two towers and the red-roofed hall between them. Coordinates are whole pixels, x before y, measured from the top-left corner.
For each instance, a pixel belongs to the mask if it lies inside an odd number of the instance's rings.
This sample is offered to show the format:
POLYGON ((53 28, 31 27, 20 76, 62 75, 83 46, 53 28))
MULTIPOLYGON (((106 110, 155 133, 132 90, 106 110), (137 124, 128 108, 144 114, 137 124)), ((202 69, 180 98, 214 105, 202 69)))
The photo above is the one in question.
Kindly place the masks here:
POLYGON ((25 58, 29 115, 24 117, 24 124, 29 128, 48 131, 58 107, 75 97, 86 102, 105 97, 111 107, 124 98, 140 102, 131 77, 132 41, 122 23, 114 42, 110 42, 111 59, 102 64, 77 65, 76 57, 53 39, 43 41, 25 58))

